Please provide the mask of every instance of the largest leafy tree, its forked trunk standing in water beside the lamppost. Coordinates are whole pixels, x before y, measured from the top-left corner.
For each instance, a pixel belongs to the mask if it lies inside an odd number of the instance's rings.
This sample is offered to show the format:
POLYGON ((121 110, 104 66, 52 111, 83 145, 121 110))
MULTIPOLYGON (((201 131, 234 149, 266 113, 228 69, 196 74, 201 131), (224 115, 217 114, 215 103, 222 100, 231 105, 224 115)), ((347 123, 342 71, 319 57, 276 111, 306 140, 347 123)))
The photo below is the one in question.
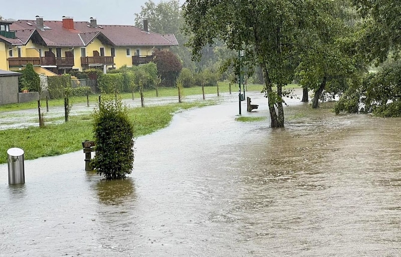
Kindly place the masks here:
POLYGON ((324 4, 321 0, 187 0, 183 9, 188 45, 194 56, 216 40, 226 42, 229 49, 244 50, 244 59, 235 61, 236 73, 243 64, 262 67, 271 126, 283 127, 283 86, 293 79, 298 56, 305 49, 305 34, 318 29, 311 21, 324 4))

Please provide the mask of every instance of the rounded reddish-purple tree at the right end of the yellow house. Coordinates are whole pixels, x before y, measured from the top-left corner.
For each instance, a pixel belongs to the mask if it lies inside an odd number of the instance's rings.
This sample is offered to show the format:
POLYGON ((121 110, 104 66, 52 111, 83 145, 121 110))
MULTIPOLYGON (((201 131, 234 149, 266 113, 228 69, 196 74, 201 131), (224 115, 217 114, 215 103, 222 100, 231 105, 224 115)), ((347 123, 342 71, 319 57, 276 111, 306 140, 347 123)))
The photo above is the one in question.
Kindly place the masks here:
POLYGON ((167 50, 156 50, 153 61, 157 65, 157 72, 160 75, 161 84, 163 86, 174 86, 175 80, 182 69, 182 64, 177 58, 177 55, 167 50))

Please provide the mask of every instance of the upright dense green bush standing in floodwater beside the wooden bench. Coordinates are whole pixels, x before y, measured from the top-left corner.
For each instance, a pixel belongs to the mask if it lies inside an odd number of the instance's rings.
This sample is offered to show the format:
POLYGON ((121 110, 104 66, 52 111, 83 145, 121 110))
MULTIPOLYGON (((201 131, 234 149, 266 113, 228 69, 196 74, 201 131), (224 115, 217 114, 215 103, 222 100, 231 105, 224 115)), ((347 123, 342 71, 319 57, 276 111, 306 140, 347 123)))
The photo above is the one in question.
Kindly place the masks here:
POLYGON ((106 179, 125 178, 134 161, 133 125, 120 99, 105 97, 94 112, 96 154, 92 166, 106 179))

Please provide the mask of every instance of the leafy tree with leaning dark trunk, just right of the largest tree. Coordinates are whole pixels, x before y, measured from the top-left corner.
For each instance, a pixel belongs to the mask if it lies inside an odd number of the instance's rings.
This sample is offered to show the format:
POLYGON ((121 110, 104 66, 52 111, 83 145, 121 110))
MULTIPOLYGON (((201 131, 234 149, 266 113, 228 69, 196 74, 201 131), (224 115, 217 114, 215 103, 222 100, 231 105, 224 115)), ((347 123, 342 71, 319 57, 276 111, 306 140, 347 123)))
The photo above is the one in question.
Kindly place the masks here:
POLYGON ((304 88, 314 92, 312 108, 317 108, 319 99, 327 94, 342 94, 354 77, 361 74, 363 61, 349 50, 349 38, 353 39, 355 31, 354 19, 351 3, 337 0, 320 6, 319 15, 311 20, 316 29, 306 34, 297 76, 304 88))

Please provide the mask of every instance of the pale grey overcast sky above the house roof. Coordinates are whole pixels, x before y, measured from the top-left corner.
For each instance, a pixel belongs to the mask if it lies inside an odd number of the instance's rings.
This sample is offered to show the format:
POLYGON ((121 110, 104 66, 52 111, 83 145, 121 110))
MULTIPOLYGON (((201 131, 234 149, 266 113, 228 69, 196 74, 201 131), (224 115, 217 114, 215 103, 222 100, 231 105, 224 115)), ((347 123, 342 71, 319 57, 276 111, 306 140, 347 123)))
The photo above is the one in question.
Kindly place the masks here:
MULTIPOLYGON (((0 15, 4 18, 62 20, 72 16, 75 21, 89 21, 96 17, 98 24, 133 25, 134 13, 148 0, 2 0, 0 15)), ((156 4, 161 0, 153 0, 156 4)), ((180 0, 183 3, 184 0, 180 0)))

